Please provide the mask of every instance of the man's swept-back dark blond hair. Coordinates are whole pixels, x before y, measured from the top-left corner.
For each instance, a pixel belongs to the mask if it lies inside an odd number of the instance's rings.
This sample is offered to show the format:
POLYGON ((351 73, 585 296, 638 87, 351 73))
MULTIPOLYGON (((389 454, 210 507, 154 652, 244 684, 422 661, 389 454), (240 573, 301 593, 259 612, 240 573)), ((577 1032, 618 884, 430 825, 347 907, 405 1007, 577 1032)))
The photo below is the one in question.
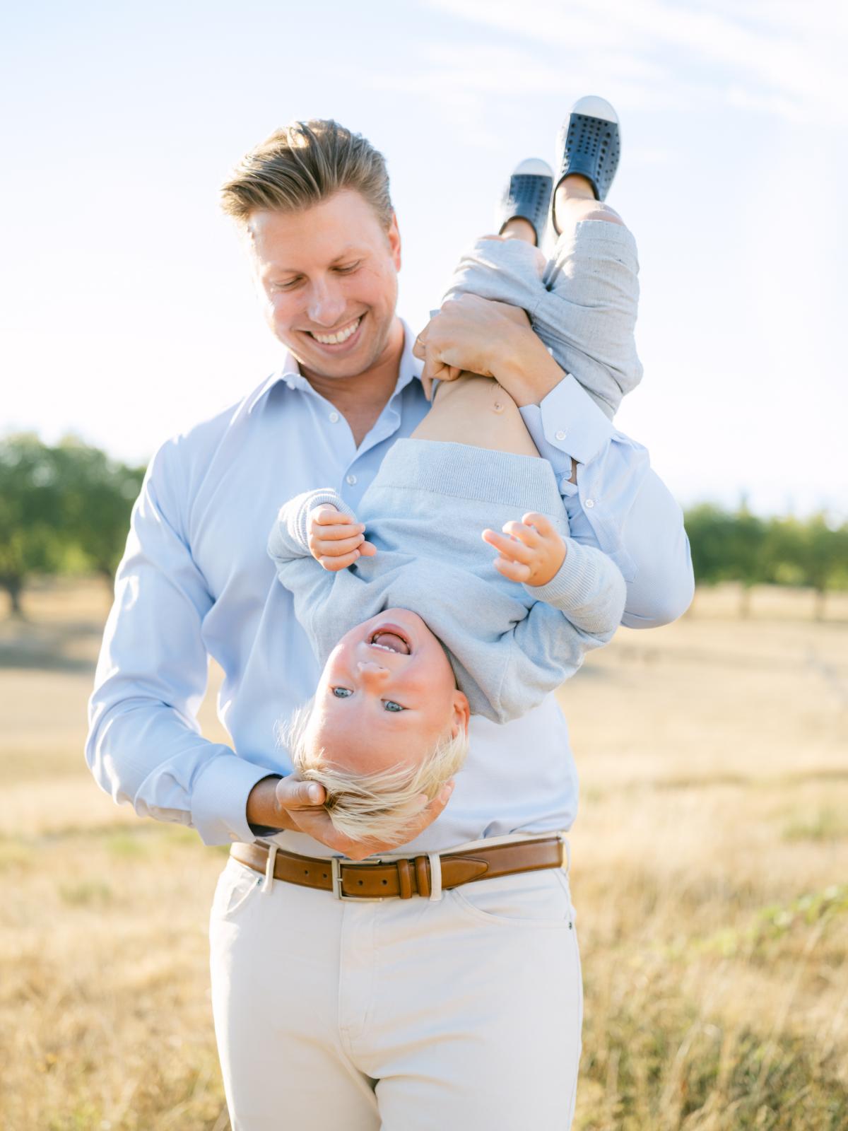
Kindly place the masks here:
POLYGON ((222 185, 220 205, 246 223, 254 211, 300 211, 354 189, 383 228, 392 217, 389 174, 381 153, 332 119, 292 122, 245 154, 222 185))

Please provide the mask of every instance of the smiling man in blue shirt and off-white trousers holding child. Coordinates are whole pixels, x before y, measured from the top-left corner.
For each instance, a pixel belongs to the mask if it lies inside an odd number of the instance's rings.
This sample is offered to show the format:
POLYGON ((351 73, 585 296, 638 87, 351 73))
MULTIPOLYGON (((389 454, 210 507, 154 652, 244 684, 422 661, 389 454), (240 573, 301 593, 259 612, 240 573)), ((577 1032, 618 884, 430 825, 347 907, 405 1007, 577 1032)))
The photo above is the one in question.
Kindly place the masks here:
MULTIPOLYGON (((427 407, 395 312, 400 235, 382 157, 335 122, 297 123, 244 158, 224 206, 288 354, 150 463, 106 625, 88 763, 139 815, 233 843, 210 958, 234 1131, 568 1126, 582 998, 552 835, 574 819, 577 780, 553 698, 504 726, 473 720, 452 796, 421 811, 403 849, 379 854, 396 863, 339 864, 371 849, 334 831, 319 786, 287 780, 272 739, 319 675, 266 554, 277 509, 330 485, 355 511, 427 407), (219 714, 235 752, 196 723, 208 655, 224 670, 219 714)), ((478 320, 449 322, 449 342, 431 323, 441 354, 429 371, 444 361, 499 379, 554 464, 572 535, 621 568, 624 623, 673 620, 691 599, 689 547, 644 450, 529 328, 496 304, 477 309, 478 320)))

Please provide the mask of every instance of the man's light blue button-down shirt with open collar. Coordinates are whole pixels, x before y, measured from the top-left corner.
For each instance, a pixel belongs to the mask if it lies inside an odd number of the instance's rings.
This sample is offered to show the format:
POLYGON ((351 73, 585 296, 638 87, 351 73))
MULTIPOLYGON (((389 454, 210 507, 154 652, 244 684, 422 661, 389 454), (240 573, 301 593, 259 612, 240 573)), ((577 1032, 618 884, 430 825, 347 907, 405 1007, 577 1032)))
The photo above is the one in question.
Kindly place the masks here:
MULTIPOLYGON (((395 392, 358 448, 344 416, 287 359, 240 404, 155 454, 89 701, 86 760, 119 804, 196 828, 207 845, 256 839, 250 791, 292 769, 275 725, 319 676, 266 553, 268 532, 286 499, 314 487, 334 487, 355 510, 392 441, 422 420, 421 365, 405 330, 395 392), (197 724, 208 656, 224 671, 218 714, 234 750, 204 739, 197 724)), ((624 622, 680 615, 692 596, 689 544, 644 449, 616 432, 572 378, 522 414, 561 480, 572 536, 609 553, 624 573, 624 622), (566 482, 572 456, 577 487, 566 482)), ((475 716, 470 736, 450 804, 412 847, 571 826, 577 775, 553 696, 503 726, 475 716)))

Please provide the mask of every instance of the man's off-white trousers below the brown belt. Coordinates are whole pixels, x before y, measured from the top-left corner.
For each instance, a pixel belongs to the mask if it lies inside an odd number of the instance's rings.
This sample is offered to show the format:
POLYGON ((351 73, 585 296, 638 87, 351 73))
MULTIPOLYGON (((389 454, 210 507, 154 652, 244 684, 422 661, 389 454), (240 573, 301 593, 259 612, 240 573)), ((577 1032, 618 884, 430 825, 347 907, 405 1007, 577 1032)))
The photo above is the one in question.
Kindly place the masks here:
POLYGON ((230 857, 210 922, 233 1131, 566 1131, 582 985, 568 874, 380 903, 230 857))

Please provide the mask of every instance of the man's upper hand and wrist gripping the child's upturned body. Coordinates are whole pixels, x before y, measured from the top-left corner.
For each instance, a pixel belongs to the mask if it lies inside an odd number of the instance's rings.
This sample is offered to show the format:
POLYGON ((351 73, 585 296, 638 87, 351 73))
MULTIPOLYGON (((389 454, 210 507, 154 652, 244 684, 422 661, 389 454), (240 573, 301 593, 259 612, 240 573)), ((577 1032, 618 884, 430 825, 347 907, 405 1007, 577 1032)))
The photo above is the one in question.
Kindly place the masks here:
POLYGON ((565 375, 530 328, 523 310, 464 294, 450 299, 415 339, 422 383, 453 381, 464 371, 494 377, 516 404, 538 404, 565 375))

